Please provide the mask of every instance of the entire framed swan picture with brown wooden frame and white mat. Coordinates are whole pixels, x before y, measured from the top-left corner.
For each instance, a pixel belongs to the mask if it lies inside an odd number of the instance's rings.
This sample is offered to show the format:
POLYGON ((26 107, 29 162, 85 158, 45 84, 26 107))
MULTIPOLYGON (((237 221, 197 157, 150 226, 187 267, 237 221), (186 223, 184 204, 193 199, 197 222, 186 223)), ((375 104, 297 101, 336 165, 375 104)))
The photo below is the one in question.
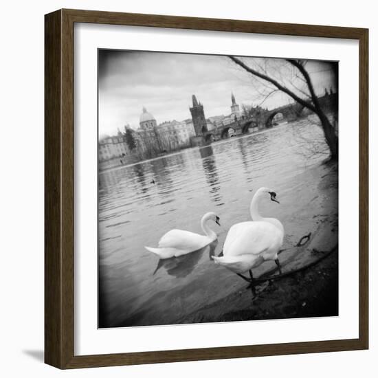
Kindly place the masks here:
POLYGON ((368 348, 368 30, 45 16, 45 362, 368 348))

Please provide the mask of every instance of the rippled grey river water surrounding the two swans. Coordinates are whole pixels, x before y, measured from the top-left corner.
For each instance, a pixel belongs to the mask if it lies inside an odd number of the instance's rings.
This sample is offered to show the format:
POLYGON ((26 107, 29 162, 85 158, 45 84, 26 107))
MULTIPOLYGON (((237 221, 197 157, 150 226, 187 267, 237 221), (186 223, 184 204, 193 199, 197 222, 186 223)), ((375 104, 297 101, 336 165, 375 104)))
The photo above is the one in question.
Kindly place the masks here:
POLYGON ((245 287, 211 255, 221 252, 232 224, 250 220, 260 186, 277 193, 280 204, 267 198, 260 212, 282 221, 284 246, 312 230, 313 219, 326 214, 318 214, 314 170, 325 147, 321 129, 307 118, 100 173, 99 326, 177 324, 245 287), (144 249, 173 228, 203 233, 199 222, 209 211, 221 219, 220 227, 212 225, 217 244, 168 260, 144 249))

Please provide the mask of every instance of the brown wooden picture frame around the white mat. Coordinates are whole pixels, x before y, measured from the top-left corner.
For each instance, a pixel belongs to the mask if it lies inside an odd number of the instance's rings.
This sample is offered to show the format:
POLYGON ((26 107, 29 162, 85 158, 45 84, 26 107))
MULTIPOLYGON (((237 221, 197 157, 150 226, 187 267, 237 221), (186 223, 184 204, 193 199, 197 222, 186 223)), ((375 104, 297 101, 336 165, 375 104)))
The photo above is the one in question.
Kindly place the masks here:
POLYGON ((45 362, 57 368, 368 348, 368 30, 87 10, 45 15, 45 362), (348 38, 359 42, 359 337, 142 353, 74 355, 74 23, 348 38))

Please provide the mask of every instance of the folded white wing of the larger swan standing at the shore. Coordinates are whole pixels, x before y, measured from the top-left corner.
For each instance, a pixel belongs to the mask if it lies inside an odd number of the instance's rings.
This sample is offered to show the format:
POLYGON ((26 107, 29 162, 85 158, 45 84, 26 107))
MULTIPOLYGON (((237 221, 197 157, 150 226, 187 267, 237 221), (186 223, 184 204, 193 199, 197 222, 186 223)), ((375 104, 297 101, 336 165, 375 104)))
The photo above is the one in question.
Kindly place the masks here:
POLYGON ((267 222, 243 222, 232 226, 230 237, 227 234, 223 254, 240 256, 242 254, 262 254, 268 249, 278 247, 282 232, 267 222))

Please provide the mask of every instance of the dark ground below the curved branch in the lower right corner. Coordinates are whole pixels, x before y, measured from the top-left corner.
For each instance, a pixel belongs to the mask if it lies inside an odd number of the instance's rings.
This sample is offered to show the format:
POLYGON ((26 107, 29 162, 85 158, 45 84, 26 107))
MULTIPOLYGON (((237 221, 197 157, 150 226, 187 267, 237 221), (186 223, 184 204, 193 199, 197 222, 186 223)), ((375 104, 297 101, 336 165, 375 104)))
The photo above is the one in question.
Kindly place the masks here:
POLYGON ((181 319, 180 323, 314 318, 339 315, 337 250, 307 270, 241 289, 181 319), (226 308, 232 311, 225 311, 226 308))

